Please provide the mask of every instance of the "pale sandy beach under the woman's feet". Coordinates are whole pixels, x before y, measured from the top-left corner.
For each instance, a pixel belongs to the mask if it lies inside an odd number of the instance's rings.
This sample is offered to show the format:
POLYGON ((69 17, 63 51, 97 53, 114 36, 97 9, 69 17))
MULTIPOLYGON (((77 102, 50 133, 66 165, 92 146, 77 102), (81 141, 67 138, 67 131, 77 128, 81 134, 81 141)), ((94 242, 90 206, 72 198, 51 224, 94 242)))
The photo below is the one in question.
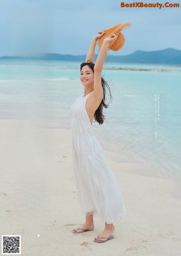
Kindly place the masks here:
POLYGON ((71 136, 70 130, 46 129, 40 122, 0 121, 1 235, 21 235, 22 256, 181 255, 179 180, 138 174, 138 163, 116 162, 106 150, 127 215, 114 223, 115 238, 107 243, 93 241, 104 228, 99 218, 94 231, 72 234, 84 215, 71 136))

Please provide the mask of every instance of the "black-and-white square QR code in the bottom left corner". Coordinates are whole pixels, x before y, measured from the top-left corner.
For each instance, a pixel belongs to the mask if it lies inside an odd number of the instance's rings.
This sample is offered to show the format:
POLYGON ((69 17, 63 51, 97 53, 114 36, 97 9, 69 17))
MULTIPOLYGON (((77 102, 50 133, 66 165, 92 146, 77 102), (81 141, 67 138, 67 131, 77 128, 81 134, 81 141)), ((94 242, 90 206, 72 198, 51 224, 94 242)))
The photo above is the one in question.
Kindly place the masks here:
POLYGON ((2 235, 2 254, 21 254, 21 235, 2 235))

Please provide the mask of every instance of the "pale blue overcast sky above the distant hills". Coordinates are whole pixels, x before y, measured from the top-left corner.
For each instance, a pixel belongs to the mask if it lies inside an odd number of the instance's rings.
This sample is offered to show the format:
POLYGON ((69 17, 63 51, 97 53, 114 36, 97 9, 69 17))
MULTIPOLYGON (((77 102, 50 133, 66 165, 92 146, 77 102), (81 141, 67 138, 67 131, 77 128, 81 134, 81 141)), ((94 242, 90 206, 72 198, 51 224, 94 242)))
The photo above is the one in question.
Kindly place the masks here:
MULTIPOLYGON (((170 1, 180 3, 180 8, 162 9, 121 8, 121 1, 0 0, 0 56, 86 54, 98 31, 124 22, 132 23, 132 27, 122 31, 125 45, 109 54, 165 48, 181 50, 180 0, 170 1)), ((98 53, 98 47, 95 52, 98 53)))

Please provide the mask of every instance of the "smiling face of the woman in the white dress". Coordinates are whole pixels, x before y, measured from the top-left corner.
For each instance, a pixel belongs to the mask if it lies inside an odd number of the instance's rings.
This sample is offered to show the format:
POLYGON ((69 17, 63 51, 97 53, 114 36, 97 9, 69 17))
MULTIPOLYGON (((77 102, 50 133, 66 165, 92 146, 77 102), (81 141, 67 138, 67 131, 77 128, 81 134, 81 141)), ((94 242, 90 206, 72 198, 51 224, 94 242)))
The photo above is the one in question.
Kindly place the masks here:
POLYGON ((94 72, 91 70, 91 68, 88 65, 84 66, 81 69, 80 81, 81 81, 81 84, 85 87, 94 86, 94 72))

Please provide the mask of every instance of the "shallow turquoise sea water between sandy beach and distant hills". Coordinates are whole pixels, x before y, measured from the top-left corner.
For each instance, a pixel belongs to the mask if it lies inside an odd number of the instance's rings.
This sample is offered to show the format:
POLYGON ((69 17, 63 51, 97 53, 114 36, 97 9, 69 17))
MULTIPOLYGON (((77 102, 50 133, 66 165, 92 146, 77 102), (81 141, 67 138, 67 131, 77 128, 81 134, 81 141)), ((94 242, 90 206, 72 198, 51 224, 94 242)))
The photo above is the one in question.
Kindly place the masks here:
MULTIPOLYGON (((80 63, 0 61, 0 118, 71 127, 71 105, 83 86, 80 63)), ((181 177, 181 67, 106 63, 112 103, 95 131, 116 160, 144 163, 142 174, 181 177)), ((109 94, 107 94, 109 100, 109 94)))

